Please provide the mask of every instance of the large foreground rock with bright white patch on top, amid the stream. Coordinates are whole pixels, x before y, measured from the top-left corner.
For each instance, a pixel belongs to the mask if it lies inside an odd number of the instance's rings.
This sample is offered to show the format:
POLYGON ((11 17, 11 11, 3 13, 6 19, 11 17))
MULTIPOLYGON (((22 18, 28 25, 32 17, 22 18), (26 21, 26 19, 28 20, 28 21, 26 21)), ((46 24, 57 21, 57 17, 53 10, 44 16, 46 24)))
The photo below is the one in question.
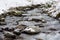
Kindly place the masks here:
POLYGON ((36 26, 36 27, 27 27, 23 32, 27 33, 27 34, 37 34, 37 33, 40 32, 40 28, 38 26, 36 26))

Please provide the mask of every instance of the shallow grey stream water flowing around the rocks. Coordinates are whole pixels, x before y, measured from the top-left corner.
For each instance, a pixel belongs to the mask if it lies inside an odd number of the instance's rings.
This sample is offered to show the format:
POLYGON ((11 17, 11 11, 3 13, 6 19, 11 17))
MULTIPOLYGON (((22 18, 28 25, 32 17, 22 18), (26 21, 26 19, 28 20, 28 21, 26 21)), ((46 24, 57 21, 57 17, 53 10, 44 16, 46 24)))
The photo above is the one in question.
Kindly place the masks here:
POLYGON ((27 11, 26 17, 7 16, 5 19, 7 25, 0 26, 0 27, 16 27, 17 26, 16 21, 18 21, 18 20, 22 20, 22 21, 19 21, 19 24, 24 24, 27 26, 34 26, 36 24, 43 24, 44 27, 41 28, 41 33, 36 34, 36 35, 21 34, 20 36, 23 37, 24 40, 36 40, 36 38, 38 38, 38 39, 41 38, 43 40, 60 40, 60 34, 58 33, 58 32, 60 32, 59 20, 51 18, 51 17, 47 16, 46 14, 37 13, 37 10, 34 9, 31 11, 27 11), (28 14, 30 14, 30 15, 28 15, 28 14), (47 22, 42 23, 42 22, 34 22, 34 21, 27 21, 26 20, 26 19, 30 20, 31 18, 37 18, 37 19, 43 18, 47 22), (48 30, 49 28, 56 28, 57 31, 48 30), (50 33, 48 34, 48 33, 42 33, 42 32, 50 32, 50 33))

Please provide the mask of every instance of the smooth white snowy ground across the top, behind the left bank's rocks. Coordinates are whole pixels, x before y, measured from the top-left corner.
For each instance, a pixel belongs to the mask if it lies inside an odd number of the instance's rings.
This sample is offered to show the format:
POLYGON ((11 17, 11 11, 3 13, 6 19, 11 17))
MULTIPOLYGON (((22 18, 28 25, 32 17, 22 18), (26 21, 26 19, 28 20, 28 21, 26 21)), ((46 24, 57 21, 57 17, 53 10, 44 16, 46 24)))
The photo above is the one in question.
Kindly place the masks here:
POLYGON ((51 0, 0 0, 0 14, 10 7, 46 3, 51 0))

